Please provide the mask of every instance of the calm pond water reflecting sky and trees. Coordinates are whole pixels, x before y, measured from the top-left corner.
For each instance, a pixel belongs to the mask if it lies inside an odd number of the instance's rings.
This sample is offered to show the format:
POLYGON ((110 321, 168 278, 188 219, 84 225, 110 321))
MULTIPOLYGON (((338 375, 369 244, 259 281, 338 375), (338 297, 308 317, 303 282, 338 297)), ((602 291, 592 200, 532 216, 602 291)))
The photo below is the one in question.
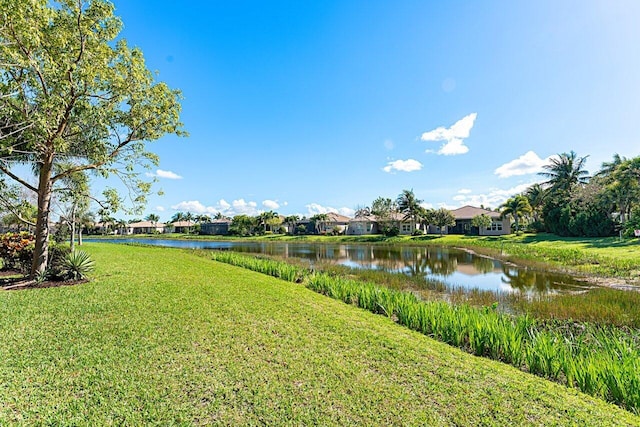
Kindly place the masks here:
POLYGON ((566 274, 503 263, 470 251, 439 246, 383 246, 367 244, 319 244, 290 242, 197 241, 172 239, 100 239, 112 243, 142 243, 189 249, 295 257, 314 262, 333 262, 352 268, 402 273, 448 286, 530 294, 563 293, 589 285, 566 274))

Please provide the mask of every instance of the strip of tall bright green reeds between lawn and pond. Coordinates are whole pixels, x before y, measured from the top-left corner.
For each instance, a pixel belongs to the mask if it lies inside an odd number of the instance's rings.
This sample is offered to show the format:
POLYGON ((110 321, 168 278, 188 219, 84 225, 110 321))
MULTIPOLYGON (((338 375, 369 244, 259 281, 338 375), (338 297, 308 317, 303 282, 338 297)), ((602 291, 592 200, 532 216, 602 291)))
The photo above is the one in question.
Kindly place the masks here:
POLYGON ((509 363, 630 411, 640 411, 640 352, 632 337, 615 329, 588 327, 580 333, 562 334, 528 315, 420 301, 409 292, 272 259, 232 252, 217 252, 213 259, 302 283, 477 356, 509 363))

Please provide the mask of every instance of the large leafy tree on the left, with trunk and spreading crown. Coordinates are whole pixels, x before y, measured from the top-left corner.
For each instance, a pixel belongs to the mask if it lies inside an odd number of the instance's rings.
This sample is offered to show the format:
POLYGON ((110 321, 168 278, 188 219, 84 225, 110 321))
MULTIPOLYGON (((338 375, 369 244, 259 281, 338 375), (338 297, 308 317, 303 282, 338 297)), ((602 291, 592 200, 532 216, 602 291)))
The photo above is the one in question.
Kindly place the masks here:
POLYGON ((31 276, 48 265, 55 186, 83 171, 115 174, 143 203, 135 166, 156 165, 146 142, 182 134, 179 93, 154 81, 142 52, 116 40, 105 0, 0 0, 0 172, 37 194, 31 276), (71 166, 54 172, 60 161, 71 166), (13 167, 29 164, 36 184, 13 167))

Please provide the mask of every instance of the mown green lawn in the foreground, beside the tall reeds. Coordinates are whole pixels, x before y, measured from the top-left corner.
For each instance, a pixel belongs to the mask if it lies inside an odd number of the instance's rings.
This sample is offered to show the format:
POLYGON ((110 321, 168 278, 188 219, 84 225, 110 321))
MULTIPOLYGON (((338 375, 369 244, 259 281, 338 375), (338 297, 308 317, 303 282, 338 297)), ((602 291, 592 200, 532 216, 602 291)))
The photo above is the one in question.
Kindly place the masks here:
POLYGON ((0 293, 0 425, 640 425, 300 285, 85 247, 91 283, 0 293))

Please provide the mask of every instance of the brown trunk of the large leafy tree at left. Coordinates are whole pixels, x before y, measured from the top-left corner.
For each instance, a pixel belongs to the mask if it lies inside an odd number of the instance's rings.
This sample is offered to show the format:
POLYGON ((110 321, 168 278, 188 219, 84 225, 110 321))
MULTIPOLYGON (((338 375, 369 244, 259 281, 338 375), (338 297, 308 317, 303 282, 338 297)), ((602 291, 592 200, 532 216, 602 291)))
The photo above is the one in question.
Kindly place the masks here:
POLYGON ((38 180, 38 219, 36 221, 36 244, 31 264, 31 278, 43 273, 49 265, 49 209, 51 206, 51 166, 53 155, 48 155, 40 166, 38 180))

